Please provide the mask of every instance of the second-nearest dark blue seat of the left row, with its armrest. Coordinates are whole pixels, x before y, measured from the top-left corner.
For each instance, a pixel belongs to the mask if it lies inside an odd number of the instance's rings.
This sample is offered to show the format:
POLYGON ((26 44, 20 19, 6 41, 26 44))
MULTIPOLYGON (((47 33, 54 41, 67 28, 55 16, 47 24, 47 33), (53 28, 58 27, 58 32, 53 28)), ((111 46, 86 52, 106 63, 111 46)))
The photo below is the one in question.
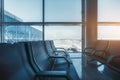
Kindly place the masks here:
MULTIPOLYGON (((32 54, 32 58, 34 58, 34 62, 40 70, 42 71, 66 71, 67 79, 69 80, 79 80, 79 77, 75 71, 75 68, 72 64, 69 64, 64 57, 57 57, 57 56, 49 56, 44 41, 33 41, 25 43, 27 45, 29 54, 32 54), (62 59, 64 62, 56 62, 57 59, 61 61, 62 59)), ((32 64, 34 64, 32 63, 32 64)), ((57 73, 56 73, 57 75, 57 73)), ((54 80, 66 80, 65 78, 52 78, 54 80)))

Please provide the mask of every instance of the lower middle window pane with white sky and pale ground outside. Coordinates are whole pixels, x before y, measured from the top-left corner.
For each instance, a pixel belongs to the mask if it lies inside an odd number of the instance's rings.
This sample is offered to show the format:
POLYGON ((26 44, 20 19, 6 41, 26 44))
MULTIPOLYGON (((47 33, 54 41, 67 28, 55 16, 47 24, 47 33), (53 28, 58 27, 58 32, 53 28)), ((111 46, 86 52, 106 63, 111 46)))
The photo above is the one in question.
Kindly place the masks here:
POLYGON ((81 26, 45 26, 45 39, 69 52, 81 50, 81 26))

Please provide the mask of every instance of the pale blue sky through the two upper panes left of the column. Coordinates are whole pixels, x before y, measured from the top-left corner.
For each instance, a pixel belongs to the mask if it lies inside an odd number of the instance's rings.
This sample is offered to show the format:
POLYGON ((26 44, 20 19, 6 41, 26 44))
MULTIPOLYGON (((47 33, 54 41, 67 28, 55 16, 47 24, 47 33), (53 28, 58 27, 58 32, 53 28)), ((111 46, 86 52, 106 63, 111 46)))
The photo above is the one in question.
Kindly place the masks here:
MULTIPOLYGON (((4 0, 5 10, 23 21, 42 21, 42 0, 4 0)), ((81 0, 45 0, 45 20, 80 22, 81 0)))

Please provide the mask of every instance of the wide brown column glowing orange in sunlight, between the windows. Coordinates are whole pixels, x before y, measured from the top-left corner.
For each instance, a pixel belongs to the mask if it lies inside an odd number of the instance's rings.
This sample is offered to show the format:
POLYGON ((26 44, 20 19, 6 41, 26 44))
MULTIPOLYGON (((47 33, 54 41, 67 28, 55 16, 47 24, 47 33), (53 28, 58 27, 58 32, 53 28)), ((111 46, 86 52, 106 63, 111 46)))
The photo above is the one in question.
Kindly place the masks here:
POLYGON ((97 40, 97 0, 86 0, 86 46, 97 40))

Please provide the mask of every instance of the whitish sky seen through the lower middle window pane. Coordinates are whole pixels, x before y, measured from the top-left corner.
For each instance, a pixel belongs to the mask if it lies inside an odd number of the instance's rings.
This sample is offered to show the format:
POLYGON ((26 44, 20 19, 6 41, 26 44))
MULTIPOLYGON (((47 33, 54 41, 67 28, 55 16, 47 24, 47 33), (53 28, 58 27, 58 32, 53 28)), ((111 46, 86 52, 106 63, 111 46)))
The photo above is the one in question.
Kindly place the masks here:
POLYGON ((81 30, 81 26, 46 26, 45 39, 81 39, 81 30))

